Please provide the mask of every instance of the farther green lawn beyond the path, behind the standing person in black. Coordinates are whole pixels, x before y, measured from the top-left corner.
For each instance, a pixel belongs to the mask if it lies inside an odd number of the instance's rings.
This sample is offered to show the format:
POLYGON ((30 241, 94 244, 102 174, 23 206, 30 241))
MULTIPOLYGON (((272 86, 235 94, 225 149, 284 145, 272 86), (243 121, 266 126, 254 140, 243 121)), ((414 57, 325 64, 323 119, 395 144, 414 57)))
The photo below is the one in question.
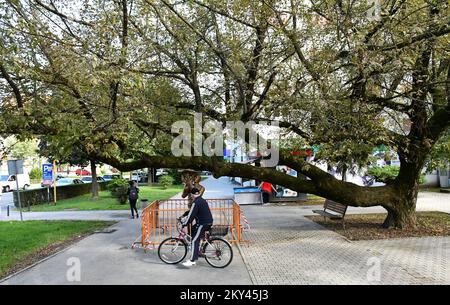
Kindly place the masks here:
MULTIPOLYGON (((139 198, 154 200, 168 199, 183 190, 181 185, 174 185, 166 190, 160 186, 142 186, 139 188, 139 198)), ((138 202, 138 207, 139 207, 138 202)), ((101 211, 101 210, 128 210, 129 204, 120 204, 112 197, 109 191, 100 192, 100 198, 91 200, 91 194, 60 200, 53 204, 42 204, 31 207, 32 212, 55 212, 55 211, 101 211)))

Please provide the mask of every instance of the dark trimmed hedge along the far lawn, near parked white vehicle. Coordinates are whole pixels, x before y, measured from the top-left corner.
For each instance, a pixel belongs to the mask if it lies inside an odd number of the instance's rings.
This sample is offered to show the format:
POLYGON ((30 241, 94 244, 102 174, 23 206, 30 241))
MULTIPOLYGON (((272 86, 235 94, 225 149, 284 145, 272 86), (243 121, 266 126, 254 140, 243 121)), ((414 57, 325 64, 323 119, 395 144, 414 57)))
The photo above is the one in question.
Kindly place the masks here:
MULTIPOLYGON (((101 191, 106 190, 108 182, 99 182, 99 188, 101 191)), ((89 194, 92 190, 92 183, 83 183, 83 184, 71 184, 64 186, 56 187, 56 198, 58 200, 73 198, 85 194, 89 194)), ((47 191, 47 188, 39 188, 34 190, 26 190, 20 191, 20 202, 22 207, 29 207, 38 204, 44 204, 49 202, 53 202, 53 188, 49 189, 50 192, 47 191)), ((17 201, 17 192, 14 192, 14 205, 19 207, 19 202, 17 201)))

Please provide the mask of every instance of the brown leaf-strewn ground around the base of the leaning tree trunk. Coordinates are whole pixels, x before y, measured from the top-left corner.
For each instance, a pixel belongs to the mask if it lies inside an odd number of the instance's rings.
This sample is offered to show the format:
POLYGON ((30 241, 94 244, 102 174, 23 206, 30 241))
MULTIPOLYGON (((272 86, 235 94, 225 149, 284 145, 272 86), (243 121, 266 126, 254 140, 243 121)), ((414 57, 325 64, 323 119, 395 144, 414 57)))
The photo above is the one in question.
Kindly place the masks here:
POLYGON ((450 235, 450 215, 441 212, 418 212, 417 226, 414 229, 403 230, 381 228, 386 214, 346 215, 345 230, 340 220, 324 221, 322 216, 308 216, 308 218, 350 240, 450 235))

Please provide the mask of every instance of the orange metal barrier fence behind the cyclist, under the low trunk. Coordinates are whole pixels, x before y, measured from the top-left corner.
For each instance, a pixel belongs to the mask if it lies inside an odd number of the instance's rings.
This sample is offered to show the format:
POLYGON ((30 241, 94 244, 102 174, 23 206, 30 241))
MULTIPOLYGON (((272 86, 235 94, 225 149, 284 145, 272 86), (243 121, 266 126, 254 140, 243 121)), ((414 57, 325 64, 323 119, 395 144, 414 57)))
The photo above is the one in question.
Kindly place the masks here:
MULTIPOLYGON (((208 199, 214 226, 227 226, 231 243, 244 242, 242 239, 241 208, 232 199, 208 199)), ((185 199, 157 200, 147 206, 141 214, 141 245, 144 248, 159 245, 167 237, 178 236, 177 218, 189 210, 185 199)))

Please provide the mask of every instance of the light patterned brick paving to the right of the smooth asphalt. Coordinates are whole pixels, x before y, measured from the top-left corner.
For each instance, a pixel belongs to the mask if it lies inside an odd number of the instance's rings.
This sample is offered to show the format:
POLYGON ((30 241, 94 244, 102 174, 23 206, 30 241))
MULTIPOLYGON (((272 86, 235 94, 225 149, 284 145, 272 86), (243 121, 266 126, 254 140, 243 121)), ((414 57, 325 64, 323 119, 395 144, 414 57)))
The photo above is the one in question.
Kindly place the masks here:
POLYGON ((350 242, 295 207, 244 211, 252 229, 240 249, 255 284, 450 284, 450 237, 350 242))

